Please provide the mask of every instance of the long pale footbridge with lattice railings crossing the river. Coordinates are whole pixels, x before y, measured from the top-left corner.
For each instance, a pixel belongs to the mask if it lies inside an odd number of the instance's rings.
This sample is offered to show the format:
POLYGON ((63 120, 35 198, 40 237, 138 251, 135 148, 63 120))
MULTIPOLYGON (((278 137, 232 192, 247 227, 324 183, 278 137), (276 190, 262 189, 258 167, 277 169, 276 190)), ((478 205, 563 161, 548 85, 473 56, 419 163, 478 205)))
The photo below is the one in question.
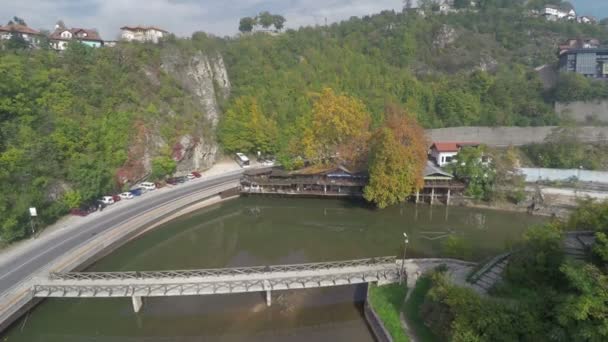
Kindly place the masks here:
POLYGON ((296 265, 153 272, 51 273, 34 286, 36 297, 131 297, 136 312, 142 297, 266 292, 317 287, 398 282, 395 257, 296 265))

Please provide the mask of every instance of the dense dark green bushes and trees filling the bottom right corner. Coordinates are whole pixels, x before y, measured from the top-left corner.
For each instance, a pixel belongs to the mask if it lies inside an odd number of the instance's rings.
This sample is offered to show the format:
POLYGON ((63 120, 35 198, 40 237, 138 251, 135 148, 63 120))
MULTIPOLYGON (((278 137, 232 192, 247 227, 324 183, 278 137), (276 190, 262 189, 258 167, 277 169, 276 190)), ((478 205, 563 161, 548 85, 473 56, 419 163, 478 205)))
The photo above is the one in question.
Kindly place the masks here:
POLYGON ((505 278, 481 297, 437 272, 421 314, 449 341, 605 341, 608 339, 608 202, 584 201, 565 222, 533 227, 505 278), (564 232, 595 231, 584 260, 564 253, 564 232))

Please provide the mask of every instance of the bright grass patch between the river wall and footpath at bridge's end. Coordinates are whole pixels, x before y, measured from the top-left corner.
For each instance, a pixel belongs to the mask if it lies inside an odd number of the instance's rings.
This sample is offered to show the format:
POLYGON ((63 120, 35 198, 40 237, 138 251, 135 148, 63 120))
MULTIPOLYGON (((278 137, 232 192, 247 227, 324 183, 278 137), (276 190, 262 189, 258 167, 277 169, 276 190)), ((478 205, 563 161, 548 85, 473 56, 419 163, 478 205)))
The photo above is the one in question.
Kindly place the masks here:
POLYGON ((369 287, 369 300, 374 311, 382 320, 384 327, 393 337, 395 342, 407 342, 409 338, 401 327, 399 313, 403 309, 403 301, 407 294, 407 288, 399 284, 385 286, 371 285, 369 287))

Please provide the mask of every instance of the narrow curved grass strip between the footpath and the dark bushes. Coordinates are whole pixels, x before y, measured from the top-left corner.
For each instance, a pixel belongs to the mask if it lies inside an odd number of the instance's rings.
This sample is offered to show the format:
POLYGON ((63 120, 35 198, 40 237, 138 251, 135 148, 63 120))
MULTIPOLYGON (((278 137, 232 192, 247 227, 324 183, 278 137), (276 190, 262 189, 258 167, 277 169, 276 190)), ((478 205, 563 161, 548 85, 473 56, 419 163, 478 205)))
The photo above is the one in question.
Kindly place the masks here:
POLYGON ((426 293, 431 289, 431 279, 429 277, 422 277, 416 282, 416 287, 410 294, 405 303, 404 313, 407 318, 407 322, 412 330, 414 330, 415 336, 420 341, 432 342, 438 341, 439 339, 433 332, 424 325, 422 317, 420 317, 420 306, 424 303, 424 297, 426 293))

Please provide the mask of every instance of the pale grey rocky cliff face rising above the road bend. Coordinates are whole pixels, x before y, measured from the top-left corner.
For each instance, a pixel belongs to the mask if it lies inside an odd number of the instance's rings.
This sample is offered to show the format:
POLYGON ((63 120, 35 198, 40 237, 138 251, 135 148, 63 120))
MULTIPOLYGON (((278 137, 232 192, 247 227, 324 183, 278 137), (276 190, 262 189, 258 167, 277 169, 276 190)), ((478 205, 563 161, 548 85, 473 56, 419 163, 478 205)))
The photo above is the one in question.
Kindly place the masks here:
POLYGON ((177 112, 161 103, 157 117, 136 123, 129 159, 118 171, 118 181, 133 183, 146 177, 154 158, 167 153, 177 162, 177 175, 213 165, 218 153, 215 128, 221 116, 220 104, 231 91, 222 56, 167 48, 161 52, 160 65, 143 73, 156 87, 161 87, 161 79, 178 83, 183 90, 180 101, 187 110, 177 112))

